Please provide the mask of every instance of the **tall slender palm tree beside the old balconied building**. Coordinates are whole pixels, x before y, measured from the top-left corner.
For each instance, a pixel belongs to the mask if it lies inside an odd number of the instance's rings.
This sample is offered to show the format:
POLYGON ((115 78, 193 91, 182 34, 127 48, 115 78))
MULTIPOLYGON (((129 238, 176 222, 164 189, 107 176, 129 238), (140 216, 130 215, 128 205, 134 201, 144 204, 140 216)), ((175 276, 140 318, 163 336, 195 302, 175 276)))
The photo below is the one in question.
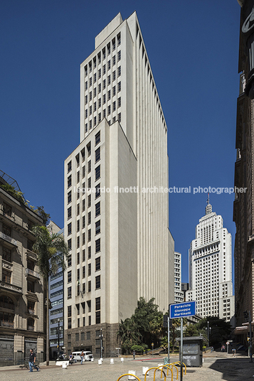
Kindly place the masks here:
POLYGON ((36 237, 33 250, 38 256, 39 272, 46 283, 46 365, 49 365, 48 277, 54 275, 59 267, 65 269, 65 257, 68 256, 68 247, 62 235, 51 235, 45 226, 34 226, 33 233, 36 237))

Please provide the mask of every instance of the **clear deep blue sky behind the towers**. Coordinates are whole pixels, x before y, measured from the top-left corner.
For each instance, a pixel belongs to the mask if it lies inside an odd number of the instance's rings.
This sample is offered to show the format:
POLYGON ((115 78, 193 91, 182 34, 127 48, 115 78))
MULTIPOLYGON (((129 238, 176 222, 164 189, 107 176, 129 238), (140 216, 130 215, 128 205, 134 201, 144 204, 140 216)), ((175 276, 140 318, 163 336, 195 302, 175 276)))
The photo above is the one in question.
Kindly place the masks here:
MULTIPOLYGON (((169 227, 188 281, 205 213, 194 187, 233 187, 240 6, 236 0, 9 0, 0 4, 0 169, 63 227, 63 161, 79 144, 80 63, 120 11, 136 10, 168 125, 169 227)), ((235 235, 233 195, 211 204, 235 235)))

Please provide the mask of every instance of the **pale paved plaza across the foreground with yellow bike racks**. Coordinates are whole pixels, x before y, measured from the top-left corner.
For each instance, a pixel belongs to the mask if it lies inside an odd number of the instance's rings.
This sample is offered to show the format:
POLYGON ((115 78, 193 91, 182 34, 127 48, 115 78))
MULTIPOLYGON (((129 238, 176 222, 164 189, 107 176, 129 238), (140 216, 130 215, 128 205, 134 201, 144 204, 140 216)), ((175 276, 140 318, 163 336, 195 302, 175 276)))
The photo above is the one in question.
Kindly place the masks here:
MULTIPOLYGON (((128 373, 129 370, 135 370, 137 377, 144 381, 142 367, 155 367, 163 363, 162 356, 154 358, 125 358, 121 363, 120 358, 114 359, 114 364, 110 364, 110 359, 105 359, 102 365, 98 365, 97 360, 94 363, 85 362, 83 365, 76 363, 69 365, 67 369, 56 367, 54 362, 46 367, 41 364, 40 372, 33 372, 31 375, 28 370, 21 369, 18 366, 0 367, 0 379, 4 381, 117 381, 117 379, 128 373)), ((171 361, 177 361, 178 356, 171 356, 171 361)), ((204 355, 202 367, 187 367, 184 381, 248 381, 254 380, 254 362, 244 355, 232 355, 226 353, 209 353, 204 355)), ((128 380, 128 377, 122 377, 121 380, 128 380)), ((154 373, 150 371, 147 381, 154 380, 154 373)), ((164 380, 160 378, 158 372, 155 380, 164 380)), ((166 377, 166 381, 171 380, 171 372, 166 377)), ((176 380, 176 371, 174 378, 176 380)), ((178 378, 180 380, 180 377, 178 378)))

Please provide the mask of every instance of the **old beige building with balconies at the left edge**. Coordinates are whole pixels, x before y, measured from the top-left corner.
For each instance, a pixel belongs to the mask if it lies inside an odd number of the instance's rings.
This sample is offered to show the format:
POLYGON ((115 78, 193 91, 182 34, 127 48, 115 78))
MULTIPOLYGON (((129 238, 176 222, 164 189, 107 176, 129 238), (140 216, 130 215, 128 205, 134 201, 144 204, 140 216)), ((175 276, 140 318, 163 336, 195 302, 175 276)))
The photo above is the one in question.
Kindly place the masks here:
MULTIPOLYGON (((0 184, 6 184, 0 177, 0 184)), ((44 360, 44 282, 31 227, 43 220, 0 186, 0 366, 44 360)))

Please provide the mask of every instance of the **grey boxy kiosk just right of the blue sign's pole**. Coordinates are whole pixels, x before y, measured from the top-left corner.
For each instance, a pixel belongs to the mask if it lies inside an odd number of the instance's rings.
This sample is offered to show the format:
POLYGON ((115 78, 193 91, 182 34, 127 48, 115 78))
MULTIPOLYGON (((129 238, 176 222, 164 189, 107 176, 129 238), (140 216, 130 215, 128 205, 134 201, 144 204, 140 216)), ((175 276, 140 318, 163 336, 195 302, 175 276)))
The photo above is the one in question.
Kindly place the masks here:
POLYGON ((203 337, 186 337, 183 344, 183 362, 186 367, 201 367, 203 364, 203 337))

